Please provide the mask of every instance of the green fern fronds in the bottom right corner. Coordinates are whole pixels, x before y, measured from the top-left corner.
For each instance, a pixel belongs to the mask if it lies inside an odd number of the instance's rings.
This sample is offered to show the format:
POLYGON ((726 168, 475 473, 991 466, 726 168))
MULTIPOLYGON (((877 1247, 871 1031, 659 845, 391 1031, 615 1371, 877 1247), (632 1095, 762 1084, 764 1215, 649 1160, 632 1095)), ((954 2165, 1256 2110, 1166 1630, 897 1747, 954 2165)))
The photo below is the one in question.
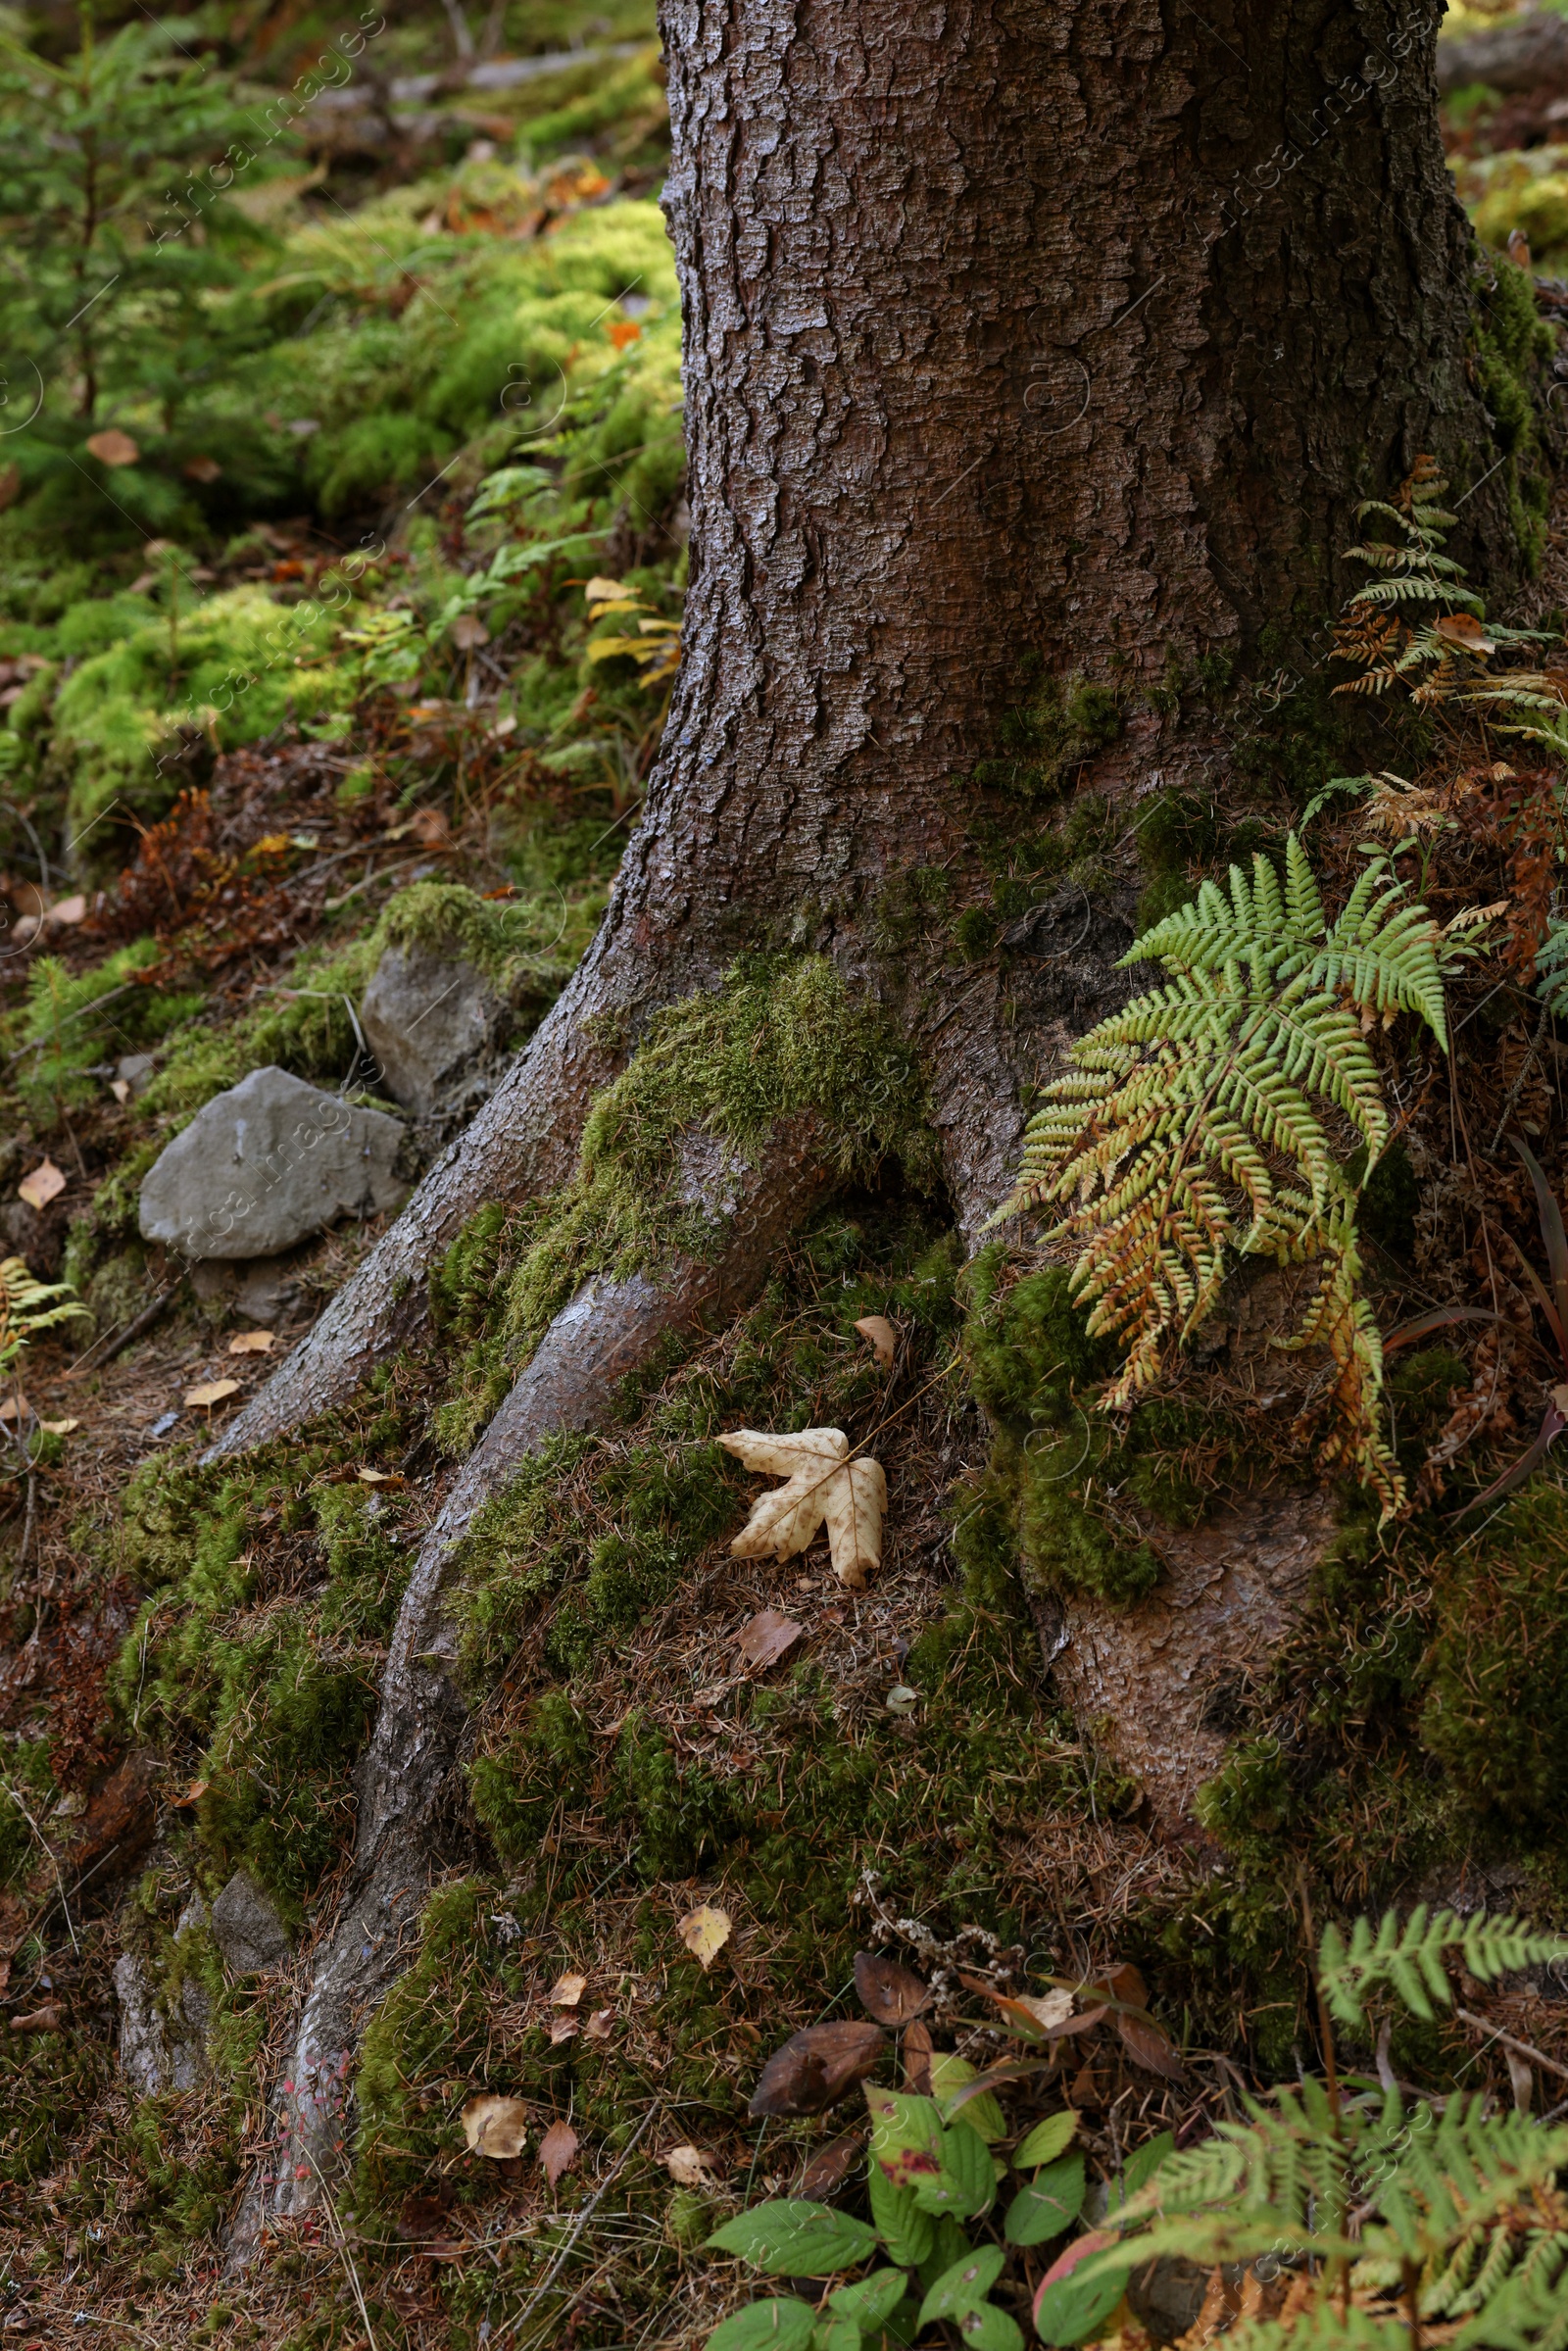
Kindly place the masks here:
POLYGON ((1568 2130, 1481 2095, 1408 2099, 1387 2067, 1380 2085, 1340 2081, 1331 2020, 1363 2029, 1389 1989, 1429 2022, 1453 2001, 1446 1961, 1490 1982, 1563 1958, 1561 1935, 1486 1914, 1389 1911, 1378 1928, 1359 1918, 1349 1942, 1331 1925, 1316 1968, 1326 2078, 1248 2095, 1239 2118, 1171 2154, 1046 2276, 1041 2337, 1084 2339, 1079 2304, 1110 2309, 1131 2271, 1175 2257, 1211 2269, 1211 2323, 1234 2351, 1406 2351, 1439 2325, 1455 2351, 1561 2351, 1568 2130))

